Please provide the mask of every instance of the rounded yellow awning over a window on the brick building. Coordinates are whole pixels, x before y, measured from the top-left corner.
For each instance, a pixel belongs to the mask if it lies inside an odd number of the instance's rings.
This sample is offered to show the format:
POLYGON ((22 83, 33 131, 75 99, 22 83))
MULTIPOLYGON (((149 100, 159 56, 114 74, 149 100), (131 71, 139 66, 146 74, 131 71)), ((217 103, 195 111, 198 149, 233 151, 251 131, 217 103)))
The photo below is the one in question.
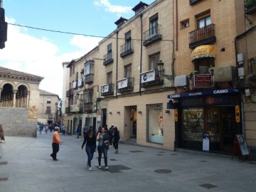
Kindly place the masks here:
POLYGON ((191 61, 197 58, 215 58, 215 46, 203 45, 197 46, 191 53, 191 61))

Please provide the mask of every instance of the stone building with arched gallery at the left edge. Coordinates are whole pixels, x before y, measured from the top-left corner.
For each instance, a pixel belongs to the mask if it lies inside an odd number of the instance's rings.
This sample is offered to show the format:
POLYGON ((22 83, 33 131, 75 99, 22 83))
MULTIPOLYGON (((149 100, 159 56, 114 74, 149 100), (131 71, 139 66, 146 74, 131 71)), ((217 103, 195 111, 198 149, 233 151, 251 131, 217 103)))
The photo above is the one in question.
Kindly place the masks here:
POLYGON ((36 137, 42 77, 0 67, 0 123, 6 136, 36 137))

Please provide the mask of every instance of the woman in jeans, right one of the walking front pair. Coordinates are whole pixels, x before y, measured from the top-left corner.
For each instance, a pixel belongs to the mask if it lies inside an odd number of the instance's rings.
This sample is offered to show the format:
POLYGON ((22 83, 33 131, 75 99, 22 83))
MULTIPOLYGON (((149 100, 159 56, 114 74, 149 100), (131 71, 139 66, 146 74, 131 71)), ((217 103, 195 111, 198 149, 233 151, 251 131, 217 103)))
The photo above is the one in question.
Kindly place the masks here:
POLYGON ((108 134, 105 134, 105 129, 102 127, 99 132, 97 133, 97 137, 96 140, 99 142, 98 146, 97 146, 97 151, 99 153, 99 157, 98 157, 98 163, 99 163, 99 168, 101 169, 101 157, 102 157, 102 153, 104 155, 104 163, 105 163, 105 170, 108 170, 108 166, 107 166, 107 150, 109 148, 109 144, 110 144, 110 137, 108 136, 108 134))

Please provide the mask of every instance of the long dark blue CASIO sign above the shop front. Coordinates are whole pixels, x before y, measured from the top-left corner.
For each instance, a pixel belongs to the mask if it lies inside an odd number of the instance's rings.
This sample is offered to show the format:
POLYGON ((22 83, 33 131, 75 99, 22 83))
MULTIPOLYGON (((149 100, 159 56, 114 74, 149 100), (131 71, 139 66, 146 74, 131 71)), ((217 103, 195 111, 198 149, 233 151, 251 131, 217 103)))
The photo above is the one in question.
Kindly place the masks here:
POLYGON ((238 94, 238 89, 227 88, 223 90, 206 90, 206 91, 199 91, 199 92, 181 92, 178 94, 168 95, 168 99, 176 99, 176 98, 183 98, 183 97, 198 97, 198 96, 208 96, 208 95, 222 95, 222 94, 238 94))

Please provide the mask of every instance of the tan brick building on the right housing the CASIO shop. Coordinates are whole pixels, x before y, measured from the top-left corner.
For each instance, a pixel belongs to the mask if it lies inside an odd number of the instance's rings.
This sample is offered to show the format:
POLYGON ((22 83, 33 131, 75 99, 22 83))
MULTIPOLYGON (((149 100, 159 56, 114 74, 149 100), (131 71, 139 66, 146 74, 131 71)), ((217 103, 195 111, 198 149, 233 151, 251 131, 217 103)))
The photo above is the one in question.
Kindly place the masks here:
POLYGON ((256 20, 245 3, 174 1, 177 147, 202 150, 203 134, 207 151, 231 152, 235 134, 256 146, 256 20))

